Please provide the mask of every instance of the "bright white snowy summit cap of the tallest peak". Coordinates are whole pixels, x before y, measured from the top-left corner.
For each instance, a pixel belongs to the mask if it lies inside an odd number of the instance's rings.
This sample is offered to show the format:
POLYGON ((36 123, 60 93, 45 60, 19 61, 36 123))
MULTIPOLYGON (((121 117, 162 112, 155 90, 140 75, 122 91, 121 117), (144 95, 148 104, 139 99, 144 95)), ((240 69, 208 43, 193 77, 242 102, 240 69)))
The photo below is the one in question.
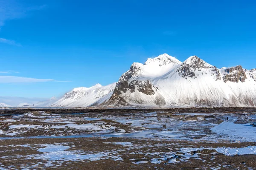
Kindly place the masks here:
POLYGON ((172 57, 165 53, 155 58, 148 58, 147 61, 145 62, 145 65, 158 64, 159 66, 162 66, 162 65, 167 65, 171 63, 180 64, 181 62, 175 57, 172 57))

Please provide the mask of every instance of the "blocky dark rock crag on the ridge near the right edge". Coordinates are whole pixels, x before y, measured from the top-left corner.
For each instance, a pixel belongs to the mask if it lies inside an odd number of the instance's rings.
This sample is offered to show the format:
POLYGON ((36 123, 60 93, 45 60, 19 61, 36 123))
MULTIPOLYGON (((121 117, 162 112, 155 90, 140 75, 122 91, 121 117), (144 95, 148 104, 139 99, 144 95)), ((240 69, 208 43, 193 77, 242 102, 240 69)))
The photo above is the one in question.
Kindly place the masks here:
POLYGON ((224 71, 227 73, 223 76, 224 82, 239 82, 239 80, 244 82, 247 79, 245 71, 241 65, 226 68, 224 71))

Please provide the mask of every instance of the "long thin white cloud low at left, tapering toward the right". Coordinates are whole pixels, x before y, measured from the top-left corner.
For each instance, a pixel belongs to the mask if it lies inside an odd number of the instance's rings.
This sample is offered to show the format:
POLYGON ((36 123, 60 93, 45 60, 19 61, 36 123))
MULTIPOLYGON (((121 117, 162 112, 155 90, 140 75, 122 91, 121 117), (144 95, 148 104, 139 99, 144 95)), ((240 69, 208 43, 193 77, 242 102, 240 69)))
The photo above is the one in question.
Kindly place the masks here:
POLYGON ((71 82, 71 81, 58 81, 55 79, 35 79, 35 78, 18 77, 18 76, 0 76, 0 83, 26 83, 26 82, 71 82))

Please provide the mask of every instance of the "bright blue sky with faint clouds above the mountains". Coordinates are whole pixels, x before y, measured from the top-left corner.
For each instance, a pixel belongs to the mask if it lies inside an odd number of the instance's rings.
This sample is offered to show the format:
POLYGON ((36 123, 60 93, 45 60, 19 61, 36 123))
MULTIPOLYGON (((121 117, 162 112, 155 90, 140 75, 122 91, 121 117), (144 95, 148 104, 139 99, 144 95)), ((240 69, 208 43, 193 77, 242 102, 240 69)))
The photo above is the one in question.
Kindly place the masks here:
POLYGON ((167 53, 256 68, 254 0, 0 0, 0 96, 116 82, 167 53))

